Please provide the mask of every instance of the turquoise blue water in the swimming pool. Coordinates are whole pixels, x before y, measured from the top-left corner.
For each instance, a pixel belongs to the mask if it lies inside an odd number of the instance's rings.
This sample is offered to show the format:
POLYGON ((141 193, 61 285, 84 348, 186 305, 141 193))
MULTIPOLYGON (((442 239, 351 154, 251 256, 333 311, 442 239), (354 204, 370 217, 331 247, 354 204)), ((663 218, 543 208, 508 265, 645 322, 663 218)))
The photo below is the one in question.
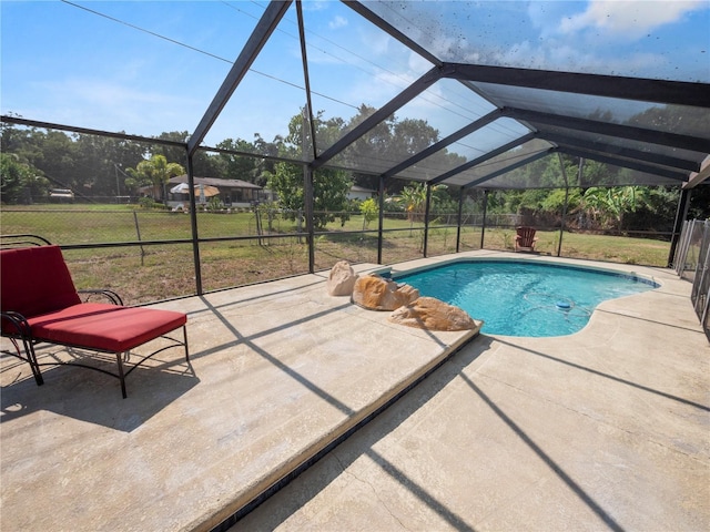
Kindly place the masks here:
POLYGON ((483 332, 536 337, 577 332, 601 301, 659 286, 633 275, 514 260, 456 262, 394 279, 483 319, 483 332))

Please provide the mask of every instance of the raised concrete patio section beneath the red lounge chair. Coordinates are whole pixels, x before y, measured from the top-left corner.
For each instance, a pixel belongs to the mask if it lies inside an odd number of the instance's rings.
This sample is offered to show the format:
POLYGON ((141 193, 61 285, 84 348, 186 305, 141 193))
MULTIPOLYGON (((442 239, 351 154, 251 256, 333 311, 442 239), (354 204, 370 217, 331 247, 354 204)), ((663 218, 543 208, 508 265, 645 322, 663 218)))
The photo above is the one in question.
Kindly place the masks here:
POLYGON ((168 350, 129 377, 126 399, 75 368, 37 387, 3 358, 3 528, 216 526, 471 336, 389 324, 328 296, 325 277, 159 305, 189 314, 191 368, 168 350))

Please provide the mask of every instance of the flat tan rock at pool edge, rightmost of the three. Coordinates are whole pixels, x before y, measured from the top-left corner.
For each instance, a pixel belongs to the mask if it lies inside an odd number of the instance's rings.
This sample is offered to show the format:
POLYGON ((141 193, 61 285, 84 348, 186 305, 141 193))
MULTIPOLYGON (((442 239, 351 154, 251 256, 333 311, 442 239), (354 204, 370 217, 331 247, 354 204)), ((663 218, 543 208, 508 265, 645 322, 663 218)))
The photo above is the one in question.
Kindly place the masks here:
POLYGON ((480 330, 484 325, 462 308, 434 297, 419 297, 416 301, 397 308, 389 316, 389 321, 429 330, 480 330))

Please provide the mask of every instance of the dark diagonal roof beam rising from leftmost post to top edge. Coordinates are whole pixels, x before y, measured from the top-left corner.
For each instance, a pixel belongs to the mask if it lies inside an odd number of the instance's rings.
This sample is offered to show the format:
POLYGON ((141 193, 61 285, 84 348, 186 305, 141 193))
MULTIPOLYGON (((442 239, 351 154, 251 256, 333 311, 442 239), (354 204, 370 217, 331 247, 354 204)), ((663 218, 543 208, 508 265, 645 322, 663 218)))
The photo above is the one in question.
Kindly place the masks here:
POLYGON ((202 116, 197 127, 187 141, 187 153, 190 155, 195 153, 197 146, 202 143, 210 131, 210 127, 212 127, 214 122, 217 120, 217 116, 226 105, 226 102, 230 100, 242 79, 244 79, 244 75, 246 75, 246 72, 254 63, 258 52, 264 48, 264 44, 266 44, 266 41, 268 41, 268 38, 278 25, 278 22, 291 7, 292 1, 293 0, 274 0, 268 2, 268 6, 264 10, 264 14, 256 24, 256 28, 254 28, 254 31, 246 41, 246 44, 242 48, 240 55, 236 58, 232 69, 222 82, 222 86, 220 86, 220 90, 202 116))

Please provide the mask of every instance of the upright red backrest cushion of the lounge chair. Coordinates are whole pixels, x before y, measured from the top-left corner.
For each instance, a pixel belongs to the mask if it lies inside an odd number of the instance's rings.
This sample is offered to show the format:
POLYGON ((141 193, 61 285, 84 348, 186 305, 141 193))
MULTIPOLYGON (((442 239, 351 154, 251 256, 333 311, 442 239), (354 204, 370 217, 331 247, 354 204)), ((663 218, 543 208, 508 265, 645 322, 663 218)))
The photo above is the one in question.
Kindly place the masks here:
POLYGON ((32 317, 81 303, 58 246, 3 249, 0 268, 2 311, 32 317))

